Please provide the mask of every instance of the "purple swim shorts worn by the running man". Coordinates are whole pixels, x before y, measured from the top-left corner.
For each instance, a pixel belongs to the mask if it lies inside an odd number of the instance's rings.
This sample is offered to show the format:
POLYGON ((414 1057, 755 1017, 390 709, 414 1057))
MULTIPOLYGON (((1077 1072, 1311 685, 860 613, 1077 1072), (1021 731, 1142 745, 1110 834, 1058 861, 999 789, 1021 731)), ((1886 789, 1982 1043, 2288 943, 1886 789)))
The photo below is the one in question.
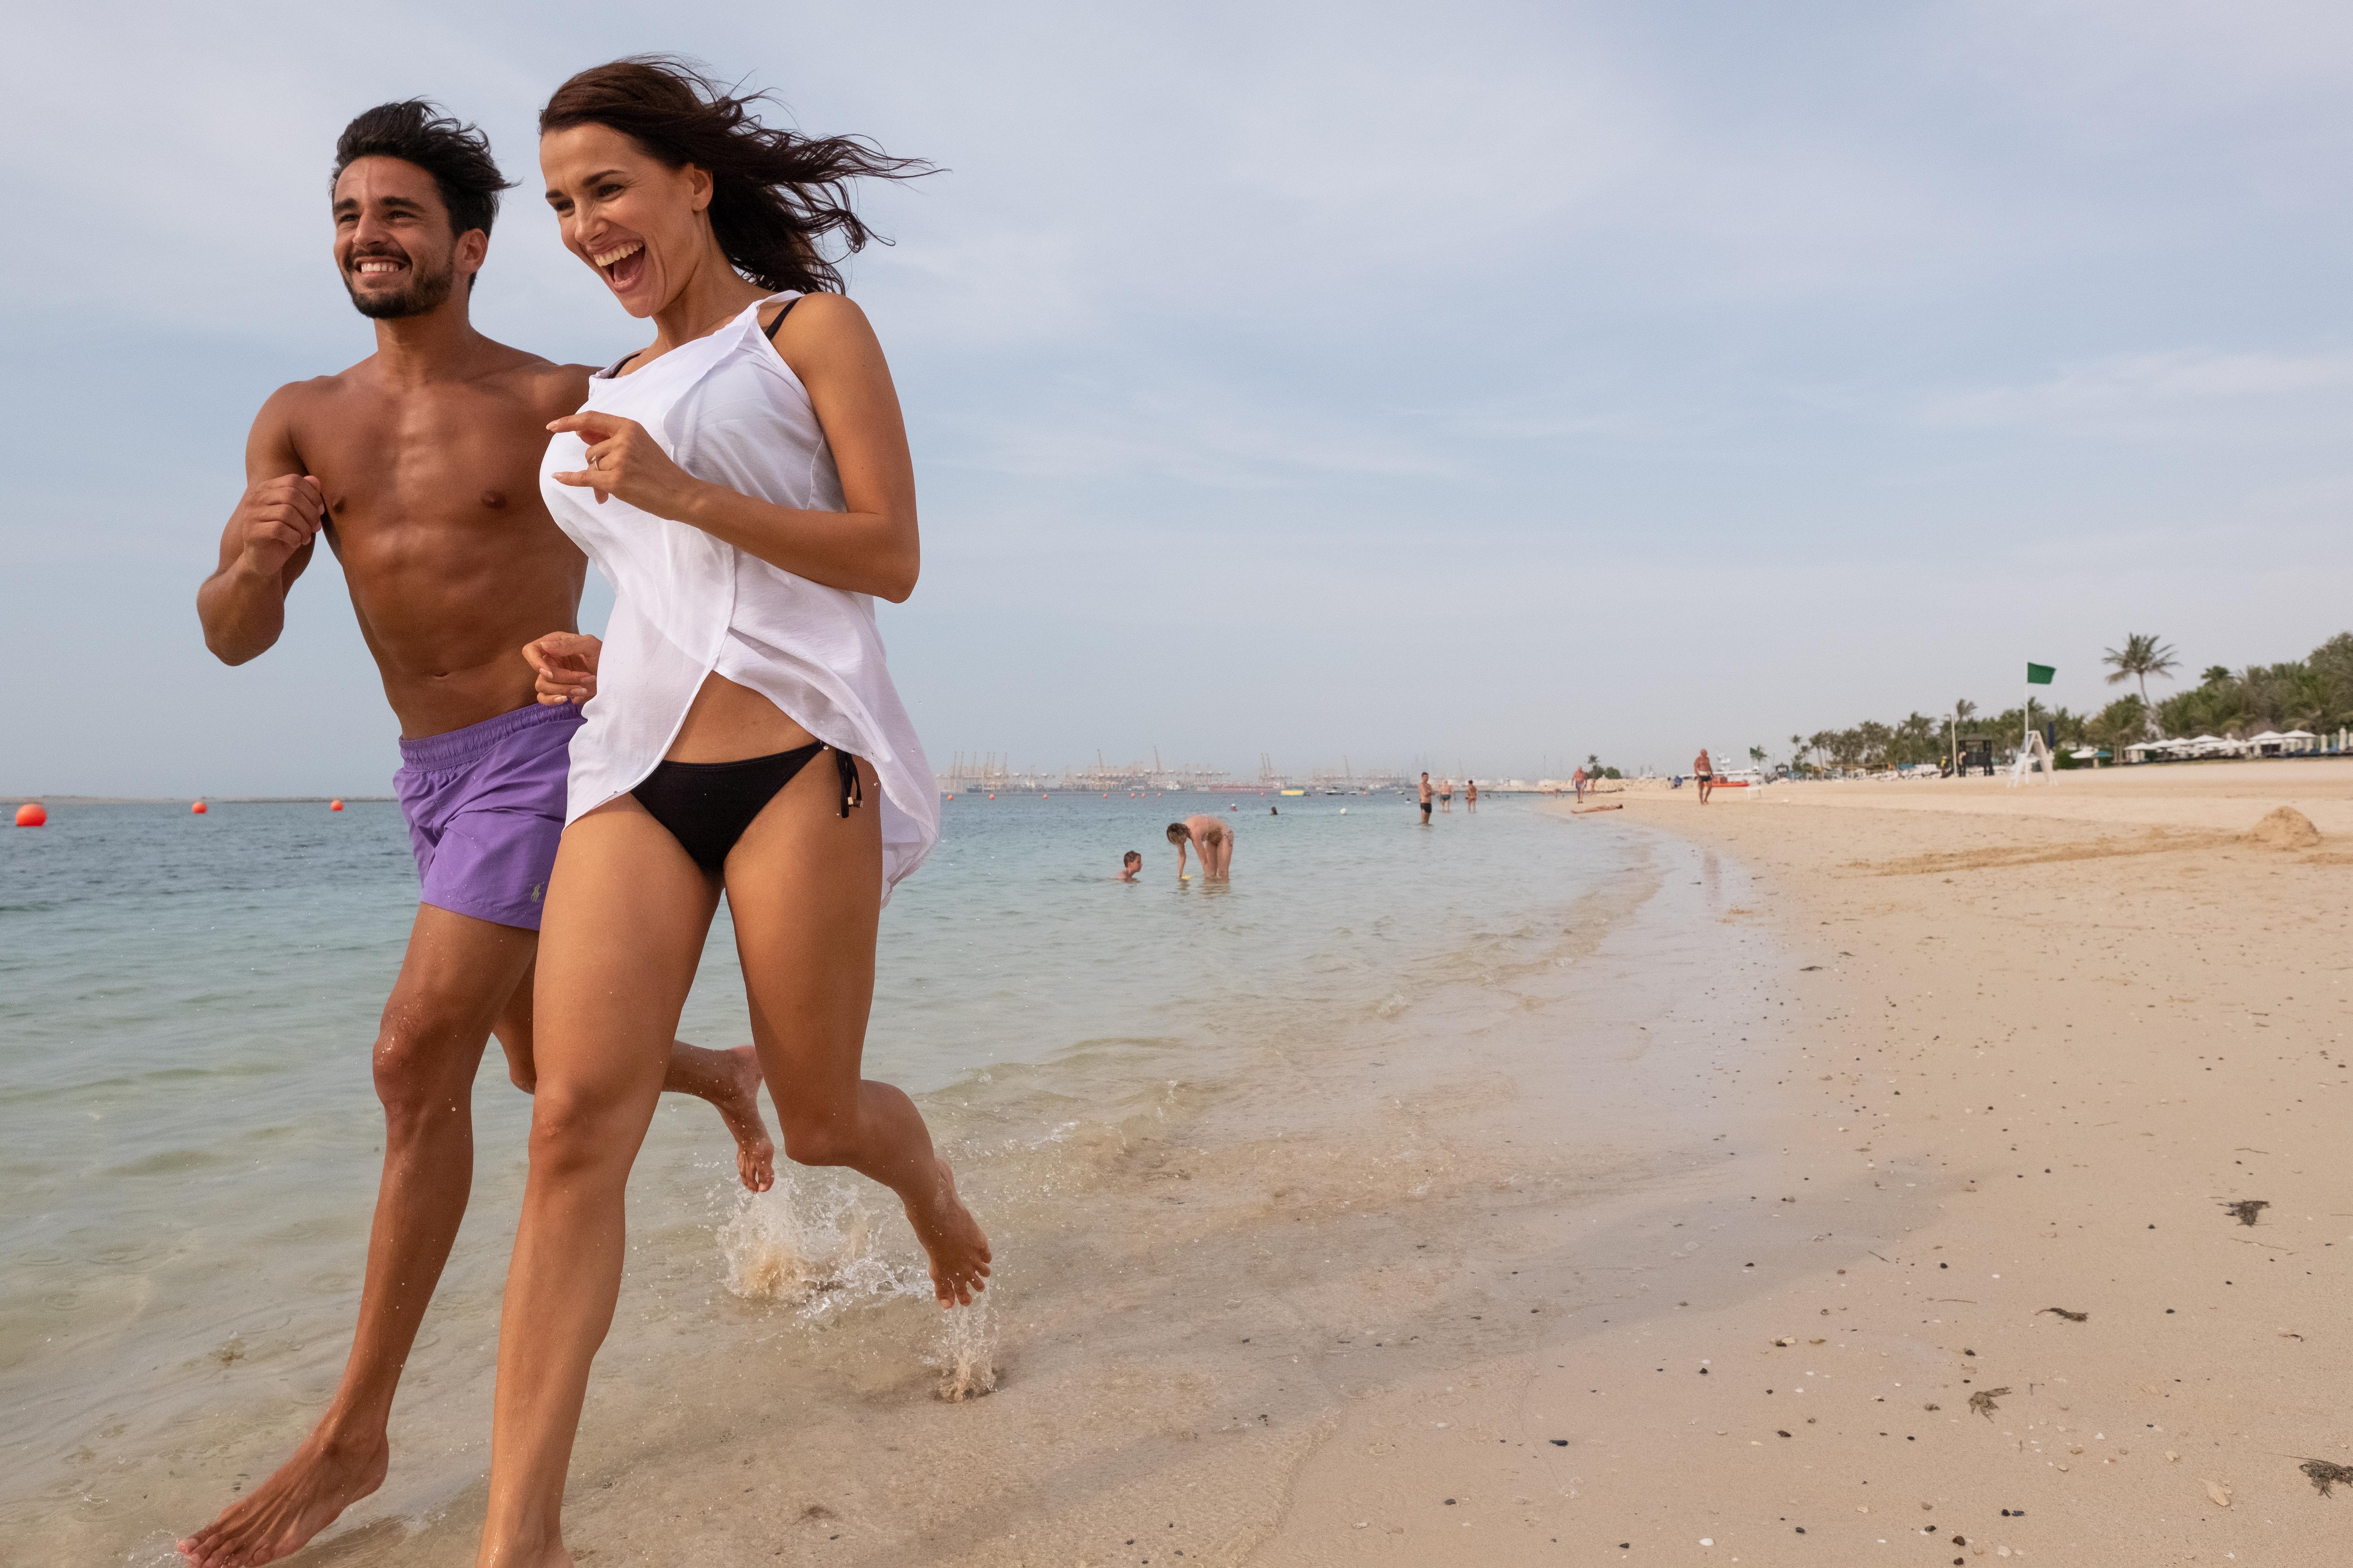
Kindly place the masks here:
POLYGON ((534 703, 442 736, 400 741, 393 792, 409 818, 419 900, 539 931, 579 726, 579 708, 534 703))

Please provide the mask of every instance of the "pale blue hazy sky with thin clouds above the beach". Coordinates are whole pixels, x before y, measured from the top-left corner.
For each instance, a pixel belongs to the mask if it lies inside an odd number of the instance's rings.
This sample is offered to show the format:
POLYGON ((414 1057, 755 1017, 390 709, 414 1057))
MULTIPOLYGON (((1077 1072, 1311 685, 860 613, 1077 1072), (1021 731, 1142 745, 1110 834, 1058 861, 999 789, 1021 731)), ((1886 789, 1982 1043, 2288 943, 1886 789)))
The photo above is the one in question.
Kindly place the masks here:
POLYGON ((254 409, 372 350, 334 136, 478 120, 525 183, 475 322, 612 360, 645 329, 560 249, 532 122, 647 49, 944 169, 871 190, 894 244, 847 266, 939 769, 1668 769, 2007 708, 2028 658, 2097 708, 2127 632, 2195 679, 2353 625, 2344 5, 348 16, 12 21, 0 790, 388 790, 325 552, 249 665, 193 611, 254 409))

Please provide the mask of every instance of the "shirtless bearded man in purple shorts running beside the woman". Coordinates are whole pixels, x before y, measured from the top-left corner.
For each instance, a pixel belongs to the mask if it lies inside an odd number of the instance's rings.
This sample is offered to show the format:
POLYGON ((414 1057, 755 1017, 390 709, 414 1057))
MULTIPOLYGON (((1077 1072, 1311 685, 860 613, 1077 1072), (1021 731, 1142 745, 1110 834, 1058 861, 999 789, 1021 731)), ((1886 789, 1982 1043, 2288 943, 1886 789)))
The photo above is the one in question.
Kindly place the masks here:
MULTIPOLYGON (((205 646, 278 642, 318 534, 344 564, 384 696, 421 903, 376 1032, 384 1180, 344 1380, 294 1455, 179 1542, 200 1568, 289 1556, 384 1483, 384 1425, 473 1182, 473 1077, 489 1034, 529 1091, 532 954, 565 818, 576 708, 541 708, 522 644, 574 625, 586 559, 539 503, 546 425, 588 369, 492 343, 466 320, 489 249, 487 141, 428 103, 372 108, 334 150, 334 263, 376 353, 278 388, 245 442, 245 498, 195 595, 205 646)), ((774 1180, 760 1067, 671 1048, 666 1088, 711 1100, 746 1187, 774 1180)))

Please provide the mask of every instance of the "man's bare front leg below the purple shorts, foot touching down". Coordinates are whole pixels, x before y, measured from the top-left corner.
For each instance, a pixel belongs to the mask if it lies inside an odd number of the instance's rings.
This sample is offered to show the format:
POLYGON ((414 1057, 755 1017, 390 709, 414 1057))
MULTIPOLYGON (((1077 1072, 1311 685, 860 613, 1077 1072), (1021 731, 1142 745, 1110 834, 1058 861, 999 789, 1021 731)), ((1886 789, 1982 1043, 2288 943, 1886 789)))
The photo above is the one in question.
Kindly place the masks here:
POLYGON ((473 1185, 473 1074, 532 966, 520 926, 419 905, 376 1032, 384 1182, 367 1232, 360 1326, 344 1382, 301 1448, 252 1495, 179 1542, 202 1568, 289 1556, 384 1483, 384 1422, 473 1185))

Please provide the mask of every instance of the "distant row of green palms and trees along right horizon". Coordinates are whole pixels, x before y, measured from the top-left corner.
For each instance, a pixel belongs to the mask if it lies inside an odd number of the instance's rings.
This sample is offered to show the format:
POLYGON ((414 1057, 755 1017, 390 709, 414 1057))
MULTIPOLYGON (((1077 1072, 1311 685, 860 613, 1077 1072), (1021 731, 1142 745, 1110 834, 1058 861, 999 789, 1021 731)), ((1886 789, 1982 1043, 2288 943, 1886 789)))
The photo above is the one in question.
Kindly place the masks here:
MULTIPOLYGON (((2129 635, 2122 649, 2108 649, 2104 663, 2111 668, 2111 686, 2132 679, 2139 691, 2120 696, 2099 712, 2035 703, 2035 729, 2052 726, 2054 745, 2099 745, 2122 752, 2134 741, 2153 738, 2245 738, 2266 729, 2308 729, 2325 736, 2353 726, 2353 632, 2337 632, 2308 656, 2278 665, 2242 670, 2209 665, 2195 686, 2158 703, 2148 701, 2148 677, 2169 675, 2177 661, 2155 635, 2129 635)), ((1847 729, 1791 736, 1791 771, 1878 771, 1944 762, 1955 733, 1991 736, 1998 750, 2012 752, 2024 731, 2024 708, 1986 715, 1977 703, 1960 701, 1948 715, 1913 712, 1894 724, 1864 719, 1847 729)))

